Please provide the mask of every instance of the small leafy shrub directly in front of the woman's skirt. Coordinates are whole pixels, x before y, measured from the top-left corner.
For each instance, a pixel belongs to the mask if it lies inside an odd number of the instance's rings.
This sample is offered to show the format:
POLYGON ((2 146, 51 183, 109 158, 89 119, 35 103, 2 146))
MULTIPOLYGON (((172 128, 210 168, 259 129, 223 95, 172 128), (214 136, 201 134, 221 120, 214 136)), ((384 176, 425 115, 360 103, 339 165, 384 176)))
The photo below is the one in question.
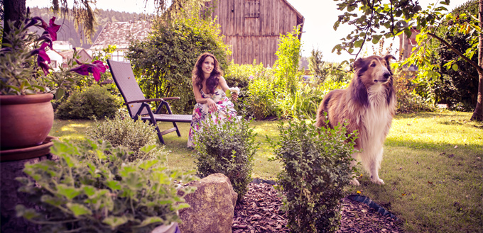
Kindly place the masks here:
POLYGON ((249 120, 206 120, 195 134, 196 166, 201 178, 222 173, 232 182, 241 201, 251 182, 254 155, 259 143, 249 120))

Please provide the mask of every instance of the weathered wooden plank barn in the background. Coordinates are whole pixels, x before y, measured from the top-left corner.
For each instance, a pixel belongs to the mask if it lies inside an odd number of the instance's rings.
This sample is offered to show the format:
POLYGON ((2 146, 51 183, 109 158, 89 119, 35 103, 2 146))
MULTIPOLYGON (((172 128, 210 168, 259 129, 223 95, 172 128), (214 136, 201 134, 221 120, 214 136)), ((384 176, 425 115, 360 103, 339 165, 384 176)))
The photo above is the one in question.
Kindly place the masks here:
POLYGON ((232 59, 237 64, 256 63, 273 66, 280 34, 299 27, 300 39, 304 18, 287 0, 212 0, 212 17, 221 25, 224 42, 232 45, 232 59))

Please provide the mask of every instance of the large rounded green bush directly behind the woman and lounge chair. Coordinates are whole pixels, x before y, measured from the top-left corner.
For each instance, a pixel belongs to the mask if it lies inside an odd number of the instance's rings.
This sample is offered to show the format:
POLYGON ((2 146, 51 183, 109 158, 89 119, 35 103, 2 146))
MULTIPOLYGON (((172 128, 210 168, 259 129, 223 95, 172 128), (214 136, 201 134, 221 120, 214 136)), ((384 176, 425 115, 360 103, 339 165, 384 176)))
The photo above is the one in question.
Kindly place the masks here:
POLYGON ((231 52, 223 42, 219 25, 214 19, 195 15, 156 21, 146 41, 131 43, 127 57, 146 98, 179 96, 171 108, 177 113, 189 113, 195 105, 191 72, 202 52, 211 52, 226 69, 226 57, 231 52))

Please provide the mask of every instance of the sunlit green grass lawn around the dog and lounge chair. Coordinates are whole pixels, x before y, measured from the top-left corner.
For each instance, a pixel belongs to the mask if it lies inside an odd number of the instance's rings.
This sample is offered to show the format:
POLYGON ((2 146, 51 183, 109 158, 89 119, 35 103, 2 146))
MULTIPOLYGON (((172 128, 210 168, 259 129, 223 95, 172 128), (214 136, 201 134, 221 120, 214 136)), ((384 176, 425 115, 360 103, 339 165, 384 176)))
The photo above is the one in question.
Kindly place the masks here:
MULTIPOLYGON (((469 122, 471 113, 417 113, 396 115, 384 147, 379 176, 386 185, 369 182, 362 172, 360 191, 394 212, 407 232, 483 232, 483 125, 469 122)), ((273 152, 265 135, 277 138, 277 121, 254 121, 261 142, 254 177, 276 179, 281 164, 267 161, 273 152)), ((90 120, 55 120, 50 135, 78 140, 90 120)), ((160 123, 161 129, 172 127, 160 123)), ((186 148, 188 123, 178 123, 182 137, 165 135, 170 168, 195 169, 192 150, 186 148)))

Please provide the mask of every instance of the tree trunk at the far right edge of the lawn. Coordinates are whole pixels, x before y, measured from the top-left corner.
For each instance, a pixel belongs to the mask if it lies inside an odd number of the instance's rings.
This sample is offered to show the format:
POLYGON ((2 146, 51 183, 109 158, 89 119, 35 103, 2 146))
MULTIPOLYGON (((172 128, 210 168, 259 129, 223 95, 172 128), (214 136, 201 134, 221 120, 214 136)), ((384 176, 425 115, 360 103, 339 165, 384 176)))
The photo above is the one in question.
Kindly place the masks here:
MULTIPOLYGON (((479 0, 479 24, 483 26, 483 0, 479 0)), ((479 34, 479 42, 478 42, 478 65, 482 67, 483 64, 483 35, 479 34)), ((473 115, 471 120, 478 120, 483 121, 483 71, 482 69, 478 69, 478 77, 479 77, 479 84, 478 84, 478 98, 477 98, 477 106, 474 108, 473 115)))

